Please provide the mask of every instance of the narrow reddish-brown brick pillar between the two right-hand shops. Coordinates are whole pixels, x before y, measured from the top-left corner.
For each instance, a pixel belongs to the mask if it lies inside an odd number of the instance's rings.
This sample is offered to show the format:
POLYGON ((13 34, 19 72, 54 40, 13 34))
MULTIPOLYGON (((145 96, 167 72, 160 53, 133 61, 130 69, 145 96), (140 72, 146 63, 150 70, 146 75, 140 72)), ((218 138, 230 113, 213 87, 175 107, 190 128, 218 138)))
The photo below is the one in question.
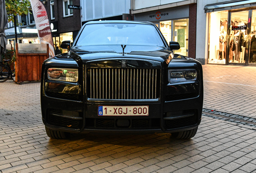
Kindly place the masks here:
POLYGON ((189 5, 188 56, 196 58, 196 4, 189 5))

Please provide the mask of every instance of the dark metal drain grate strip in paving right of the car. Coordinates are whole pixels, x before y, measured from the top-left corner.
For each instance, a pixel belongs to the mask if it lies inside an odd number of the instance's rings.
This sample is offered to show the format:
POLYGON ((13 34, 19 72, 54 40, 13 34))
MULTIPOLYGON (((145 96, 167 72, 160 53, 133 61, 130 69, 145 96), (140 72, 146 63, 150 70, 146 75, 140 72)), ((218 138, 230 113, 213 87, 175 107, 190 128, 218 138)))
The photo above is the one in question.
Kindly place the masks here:
POLYGON ((211 111, 208 109, 203 109, 202 115, 229 121, 229 122, 233 122, 233 123, 237 123, 237 124, 256 127, 256 119, 244 117, 241 115, 234 115, 234 114, 228 114, 228 113, 223 113, 223 112, 211 111))

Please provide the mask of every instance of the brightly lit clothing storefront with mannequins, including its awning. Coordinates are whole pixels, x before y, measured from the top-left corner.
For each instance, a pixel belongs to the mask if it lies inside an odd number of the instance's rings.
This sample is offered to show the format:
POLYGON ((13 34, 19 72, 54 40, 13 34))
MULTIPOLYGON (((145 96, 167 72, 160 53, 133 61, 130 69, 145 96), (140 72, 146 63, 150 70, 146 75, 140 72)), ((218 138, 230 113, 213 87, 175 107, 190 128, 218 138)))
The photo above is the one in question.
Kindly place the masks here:
POLYGON ((209 64, 256 66, 256 3, 248 2, 204 7, 209 16, 209 64))

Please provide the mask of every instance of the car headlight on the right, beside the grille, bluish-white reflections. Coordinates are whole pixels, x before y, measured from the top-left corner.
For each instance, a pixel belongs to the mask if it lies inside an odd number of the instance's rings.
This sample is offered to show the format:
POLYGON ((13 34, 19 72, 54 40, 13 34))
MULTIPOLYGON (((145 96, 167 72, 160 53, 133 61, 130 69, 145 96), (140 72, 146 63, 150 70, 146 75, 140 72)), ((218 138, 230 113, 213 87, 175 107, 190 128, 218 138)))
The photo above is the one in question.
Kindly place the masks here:
POLYGON ((197 71, 195 69, 168 70, 168 81, 170 83, 194 81, 196 78, 197 71))

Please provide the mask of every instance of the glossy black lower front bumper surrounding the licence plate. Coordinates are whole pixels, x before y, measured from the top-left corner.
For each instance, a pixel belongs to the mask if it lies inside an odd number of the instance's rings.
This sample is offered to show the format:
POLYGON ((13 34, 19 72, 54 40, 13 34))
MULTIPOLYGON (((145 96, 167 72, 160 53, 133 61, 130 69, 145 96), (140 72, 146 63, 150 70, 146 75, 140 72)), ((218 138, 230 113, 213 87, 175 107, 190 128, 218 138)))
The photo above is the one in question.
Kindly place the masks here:
POLYGON ((70 133, 156 132, 172 133, 196 128, 201 121, 202 96, 165 103, 84 103, 41 96, 46 127, 70 133), (149 105, 149 116, 98 116, 99 105, 149 105), (182 106, 181 106, 182 105, 182 106), (125 125, 123 125, 124 123, 125 125), (127 124, 128 123, 128 124, 127 124))

